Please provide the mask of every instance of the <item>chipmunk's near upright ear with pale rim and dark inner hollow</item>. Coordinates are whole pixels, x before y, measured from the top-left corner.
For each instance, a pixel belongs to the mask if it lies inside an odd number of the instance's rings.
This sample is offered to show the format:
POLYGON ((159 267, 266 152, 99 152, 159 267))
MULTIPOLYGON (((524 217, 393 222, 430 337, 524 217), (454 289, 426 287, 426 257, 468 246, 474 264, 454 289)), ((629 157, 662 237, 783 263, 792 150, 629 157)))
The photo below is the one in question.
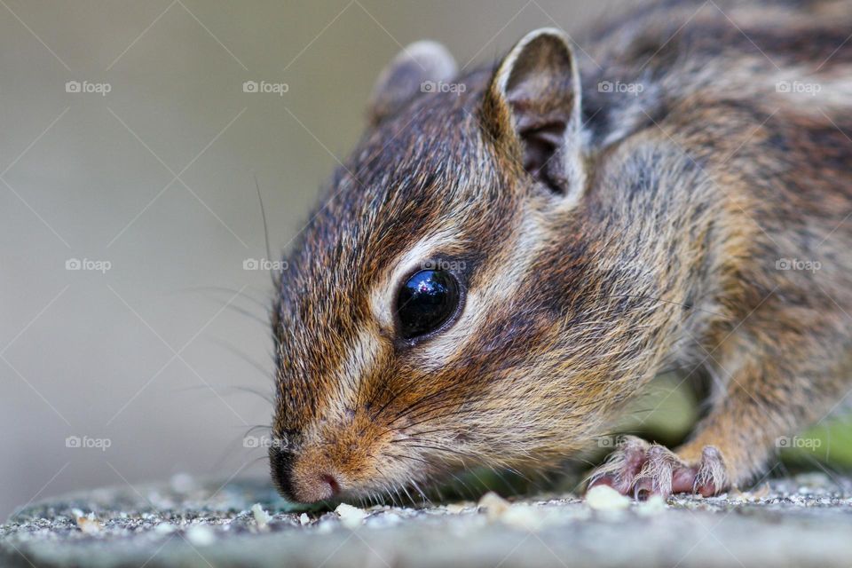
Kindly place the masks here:
POLYGON ((586 177, 580 74, 569 42, 556 28, 527 34, 501 61, 482 110, 498 144, 536 181, 576 199, 586 177))

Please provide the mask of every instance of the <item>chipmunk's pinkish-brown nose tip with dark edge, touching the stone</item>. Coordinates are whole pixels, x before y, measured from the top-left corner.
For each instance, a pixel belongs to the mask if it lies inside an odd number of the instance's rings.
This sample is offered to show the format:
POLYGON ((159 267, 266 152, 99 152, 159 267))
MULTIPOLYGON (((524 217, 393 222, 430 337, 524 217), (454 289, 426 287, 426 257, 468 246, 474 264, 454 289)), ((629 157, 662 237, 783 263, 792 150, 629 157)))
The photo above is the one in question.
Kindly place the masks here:
POLYGON ((340 493, 340 480, 328 470, 305 463, 293 452, 280 447, 269 451, 272 480, 280 493, 291 501, 325 501, 340 493))

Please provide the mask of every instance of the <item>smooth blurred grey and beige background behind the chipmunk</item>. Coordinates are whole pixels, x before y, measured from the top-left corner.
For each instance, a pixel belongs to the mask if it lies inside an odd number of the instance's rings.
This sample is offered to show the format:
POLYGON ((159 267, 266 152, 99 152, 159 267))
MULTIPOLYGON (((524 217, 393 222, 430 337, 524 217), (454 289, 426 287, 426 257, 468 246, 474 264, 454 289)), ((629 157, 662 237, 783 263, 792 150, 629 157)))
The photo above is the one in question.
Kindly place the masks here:
POLYGON ((244 442, 272 394, 254 177, 277 256, 401 45, 491 64, 628 4, 0 1, 0 519, 98 485, 266 475, 244 442))

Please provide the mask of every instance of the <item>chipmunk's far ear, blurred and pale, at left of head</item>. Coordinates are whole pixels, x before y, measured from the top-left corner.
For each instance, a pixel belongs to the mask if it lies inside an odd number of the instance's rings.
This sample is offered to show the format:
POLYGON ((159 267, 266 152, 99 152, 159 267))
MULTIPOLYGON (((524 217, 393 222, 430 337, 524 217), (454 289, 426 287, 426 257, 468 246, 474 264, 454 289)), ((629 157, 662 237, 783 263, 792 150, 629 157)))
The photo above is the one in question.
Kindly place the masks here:
POLYGON ((378 124, 436 83, 449 82, 458 73, 455 59, 437 42, 411 43, 391 59, 375 82, 370 97, 370 122, 378 124))

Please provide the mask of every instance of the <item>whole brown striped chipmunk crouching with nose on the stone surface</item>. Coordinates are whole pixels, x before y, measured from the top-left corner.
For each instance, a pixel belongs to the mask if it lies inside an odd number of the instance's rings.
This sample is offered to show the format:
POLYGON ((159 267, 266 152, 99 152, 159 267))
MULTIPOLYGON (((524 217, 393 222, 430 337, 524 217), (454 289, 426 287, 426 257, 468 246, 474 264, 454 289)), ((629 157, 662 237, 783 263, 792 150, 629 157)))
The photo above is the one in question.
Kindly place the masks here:
POLYGON ((460 73, 414 43, 277 281, 272 478, 295 501, 547 469, 660 369, 674 450, 592 484, 714 495, 840 406, 852 344, 852 4, 651 4, 460 73))

